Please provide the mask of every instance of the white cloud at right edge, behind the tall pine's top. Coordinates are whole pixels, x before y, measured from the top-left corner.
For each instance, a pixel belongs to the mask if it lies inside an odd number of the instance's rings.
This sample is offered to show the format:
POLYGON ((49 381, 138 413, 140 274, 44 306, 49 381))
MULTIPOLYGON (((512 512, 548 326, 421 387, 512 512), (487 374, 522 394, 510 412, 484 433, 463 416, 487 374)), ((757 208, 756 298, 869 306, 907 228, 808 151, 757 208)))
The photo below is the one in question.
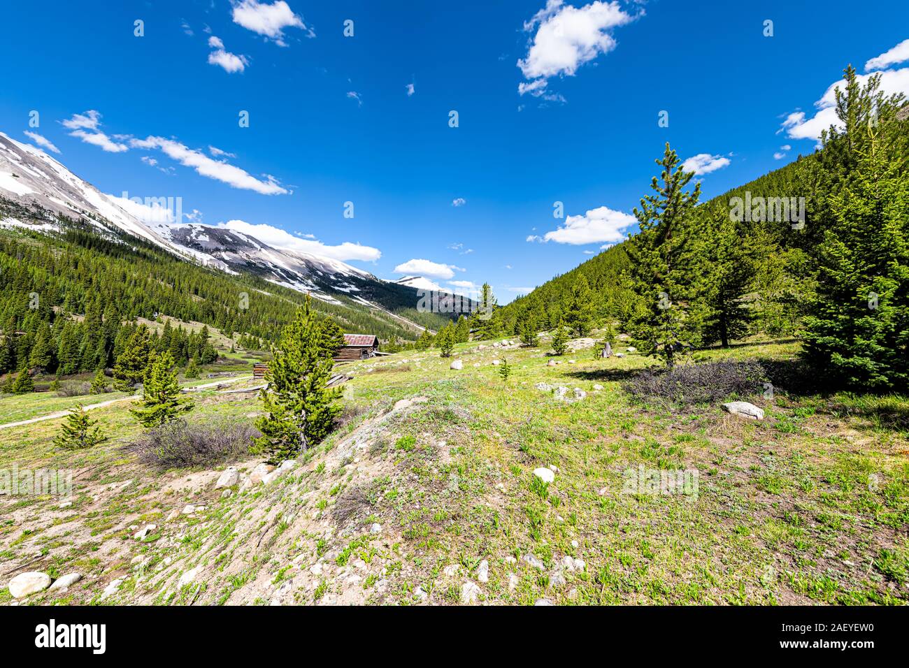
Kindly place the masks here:
MULTIPOLYGON (((877 56, 877 58, 872 58, 865 67, 870 69, 869 65, 881 67, 887 64, 901 62, 901 59, 905 60, 906 58, 903 58, 902 55, 904 55, 904 50, 909 48, 904 46, 907 43, 909 43, 909 40, 901 42, 885 54, 877 56), (875 61, 879 62, 875 63, 875 61)), ((884 70, 882 72, 876 72, 874 75, 881 77, 880 90, 884 95, 894 95, 896 93, 909 95, 909 67, 884 70)), ((859 85, 864 86, 870 76, 873 75, 856 75, 855 78, 859 85)), ((836 116, 835 89, 837 86, 841 91, 845 91, 845 80, 840 79, 827 86, 827 90, 824 91, 824 95, 821 96, 821 99, 814 103, 814 108, 817 110, 814 116, 809 118, 803 111, 798 110, 794 111, 792 114, 786 115, 783 123, 780 124, 780 129, 777 131, 777 134, 785 132, 786 136, 790 139, 814 139, 814 141, 818 141, 821 138, 821 133, 824 130, 828 130, 831 125, 842 129, 843 124, 836 116)))

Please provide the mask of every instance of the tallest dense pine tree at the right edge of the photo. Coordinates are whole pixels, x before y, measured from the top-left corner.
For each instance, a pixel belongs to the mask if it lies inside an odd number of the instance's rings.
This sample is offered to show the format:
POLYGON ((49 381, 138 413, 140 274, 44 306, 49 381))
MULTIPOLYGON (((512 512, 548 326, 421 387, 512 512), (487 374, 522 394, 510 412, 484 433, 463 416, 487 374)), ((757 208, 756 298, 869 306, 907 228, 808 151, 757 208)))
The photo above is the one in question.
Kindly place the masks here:
POLYGON ((805 355, 816 368, 863 389, 909 387, 909 122, 903 95, 885 97, 880 75, 864 87, 852 67, 835 90, 844 125, 824 153, 842 175, 825 197, 816 296, 805 355))

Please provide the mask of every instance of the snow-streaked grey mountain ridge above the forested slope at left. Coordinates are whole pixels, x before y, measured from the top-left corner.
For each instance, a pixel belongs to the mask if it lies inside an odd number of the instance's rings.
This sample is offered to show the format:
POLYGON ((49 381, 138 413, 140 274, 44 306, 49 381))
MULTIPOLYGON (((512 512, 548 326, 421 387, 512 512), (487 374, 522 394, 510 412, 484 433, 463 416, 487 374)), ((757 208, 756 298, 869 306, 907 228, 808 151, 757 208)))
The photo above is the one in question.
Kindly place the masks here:
MULTIPOLYGON (((355 302, 416 304, 416 295, 338 260, 264 244, 249 234, 223 227, 143 222, 128 201, 104 194, 35 146, 0 133, 0 225, 53 230, 60 216, 81 219, 99 233, 126 233, 179 257, 230 273, 258 274, 275 284, 337 303, 339 294, 355 302), (3 204, 3 199, 7 204, 3 204), (333 295, 334 293, 334 295, 333 295)), ((434 288, 435 289, 435 288, 434 288)))

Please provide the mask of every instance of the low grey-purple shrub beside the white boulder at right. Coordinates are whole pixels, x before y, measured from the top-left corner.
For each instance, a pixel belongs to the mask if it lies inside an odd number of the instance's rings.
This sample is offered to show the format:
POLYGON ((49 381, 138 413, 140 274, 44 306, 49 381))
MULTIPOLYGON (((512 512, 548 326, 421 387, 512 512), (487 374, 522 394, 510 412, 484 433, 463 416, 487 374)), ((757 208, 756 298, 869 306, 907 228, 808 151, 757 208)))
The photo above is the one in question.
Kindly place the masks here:
POLYGON ((767 374, 755 360, 684 364, 671 369, 646 369, 625 381, 624 390, 638 399, 658 399, 674 404, 705 404, 729 396, 764 391, 767 374))

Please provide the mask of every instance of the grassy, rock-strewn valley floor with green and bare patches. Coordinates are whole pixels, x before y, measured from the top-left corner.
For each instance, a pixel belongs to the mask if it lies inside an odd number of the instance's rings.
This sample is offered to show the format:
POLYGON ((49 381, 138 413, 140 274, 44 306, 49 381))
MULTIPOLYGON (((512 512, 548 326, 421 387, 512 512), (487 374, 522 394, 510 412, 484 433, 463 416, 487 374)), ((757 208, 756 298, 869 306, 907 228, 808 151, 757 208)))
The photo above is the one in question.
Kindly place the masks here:
MULTIPOLYGON (((60 419, 0 430, 0 471, 74 472, 68 500, 0 496, 0 603, 909 601, 906 397, 781 387, 744 397, 765 411, 747 421, 719 404, 635 403, 621 384, 653 364, 638 354, 582 347, 547 366, 543 346, 484 346, 458 346, 461 370, 438 351, 345 365, 335 434, 229 495, 215 489, 223 471, 159 473, 125 453, 140 432, 130 402, 92 411, 112 438, 87 451, 55 449, 60 419), (630 493, 629 470, 696 471, 696 489, 630 493), (82 578, 15 600, 6 584, 26 571, 82 578)), ((255 392, 194 397, 192 422, 251 423, 262 405, 255 392)), ((65 407, 5 397, 0 423, 65 407)), ((237 463, 240 479, 260 462, 237 463)))

